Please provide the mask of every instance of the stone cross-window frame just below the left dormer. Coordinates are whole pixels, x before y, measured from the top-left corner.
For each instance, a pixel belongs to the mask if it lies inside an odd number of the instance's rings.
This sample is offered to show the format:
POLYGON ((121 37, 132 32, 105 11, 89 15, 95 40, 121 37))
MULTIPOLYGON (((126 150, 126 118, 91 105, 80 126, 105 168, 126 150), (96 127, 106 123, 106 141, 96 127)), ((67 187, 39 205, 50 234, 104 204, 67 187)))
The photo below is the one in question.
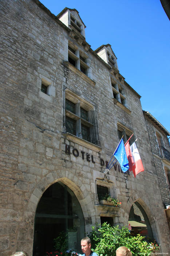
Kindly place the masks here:
POLYGON ((68 61, 77 69, 79 69, 83 74, 89 76, 89 66, 88 66, 88 56, 82 50, 80 50, 76 45, 72 44, 72 42, 68 41, 68 61), (70 50, 71 48, 72 50, 70 50), (69 61, 69 58, 75 61, 75 65, 69 61), (84 61, 83 61, 84 59, 84 61))

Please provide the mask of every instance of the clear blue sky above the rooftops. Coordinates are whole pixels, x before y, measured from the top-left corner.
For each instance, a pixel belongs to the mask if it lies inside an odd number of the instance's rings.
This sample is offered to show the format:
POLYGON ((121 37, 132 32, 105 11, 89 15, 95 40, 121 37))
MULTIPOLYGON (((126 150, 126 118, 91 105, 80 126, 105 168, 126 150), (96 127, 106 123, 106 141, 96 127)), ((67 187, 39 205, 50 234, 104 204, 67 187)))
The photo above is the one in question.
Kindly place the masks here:
POLYGON ((160 0, 40 0, 53 14, 75 8, 93 50, 110 44, 118 68, 170 132, 170 21, 160 0))

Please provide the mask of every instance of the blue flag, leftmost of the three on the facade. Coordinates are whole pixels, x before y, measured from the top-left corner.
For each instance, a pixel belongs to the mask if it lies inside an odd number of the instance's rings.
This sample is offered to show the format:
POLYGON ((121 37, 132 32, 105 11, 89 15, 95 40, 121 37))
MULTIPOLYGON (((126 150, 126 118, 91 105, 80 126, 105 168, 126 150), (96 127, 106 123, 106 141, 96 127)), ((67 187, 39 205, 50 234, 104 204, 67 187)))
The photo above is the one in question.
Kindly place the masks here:
POLYGON ((116 148, 113 155, 119 161, 120 167, 123 172, 129 170, 129 162, 127 160, 123 139, 120 140, 118 147, 116 148))

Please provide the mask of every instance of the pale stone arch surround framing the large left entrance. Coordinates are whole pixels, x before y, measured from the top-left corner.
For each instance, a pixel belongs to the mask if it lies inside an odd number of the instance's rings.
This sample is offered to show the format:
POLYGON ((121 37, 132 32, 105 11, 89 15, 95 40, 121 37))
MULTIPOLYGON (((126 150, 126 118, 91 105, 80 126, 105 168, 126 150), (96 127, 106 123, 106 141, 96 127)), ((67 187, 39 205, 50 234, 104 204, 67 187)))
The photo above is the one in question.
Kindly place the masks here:
MULTIPOLYGON (((33 189, 31 196, 28 200, 27 207, 24 211, 23 221, 27 223, 27 227, 30 234, 33 234, 34 228, 34 221, 35 221, 35 214, 37 205, 43 195, 44 191, 49 188, 52 184, 56 182, 62 182, 63 184, 67 185, 72 192, 74 192, 75 196, 77 197, 80 206, 82 208, 82 212, 84 215, 84 221, 88 224, 89 218, 91 218, 91 208, 92 208, 92 199, 86 190, 83 182, 80 180, 79 177, 75 176, 74 174, 68 172, 67 170, 59 170, 54 171, 46 176, 44 176, 33 189)), ((29 255, 32 255, 33 249, 33 235, 30 235, 28 238, 29 248, 30 251, 28 252, 29 255)))

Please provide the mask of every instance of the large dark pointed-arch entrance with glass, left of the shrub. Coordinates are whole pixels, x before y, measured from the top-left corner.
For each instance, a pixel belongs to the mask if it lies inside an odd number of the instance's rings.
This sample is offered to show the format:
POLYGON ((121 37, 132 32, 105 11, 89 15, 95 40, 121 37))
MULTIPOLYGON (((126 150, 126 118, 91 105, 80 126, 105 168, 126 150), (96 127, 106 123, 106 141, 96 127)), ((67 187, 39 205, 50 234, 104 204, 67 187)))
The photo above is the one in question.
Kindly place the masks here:
POLYGON ((33 256, 55 251, 54 238, 63 231, 68 235, 68 248, 80 252, 85 231, 82 208, 72 190, 56 182, 43 193, 37 205, 33 256))

